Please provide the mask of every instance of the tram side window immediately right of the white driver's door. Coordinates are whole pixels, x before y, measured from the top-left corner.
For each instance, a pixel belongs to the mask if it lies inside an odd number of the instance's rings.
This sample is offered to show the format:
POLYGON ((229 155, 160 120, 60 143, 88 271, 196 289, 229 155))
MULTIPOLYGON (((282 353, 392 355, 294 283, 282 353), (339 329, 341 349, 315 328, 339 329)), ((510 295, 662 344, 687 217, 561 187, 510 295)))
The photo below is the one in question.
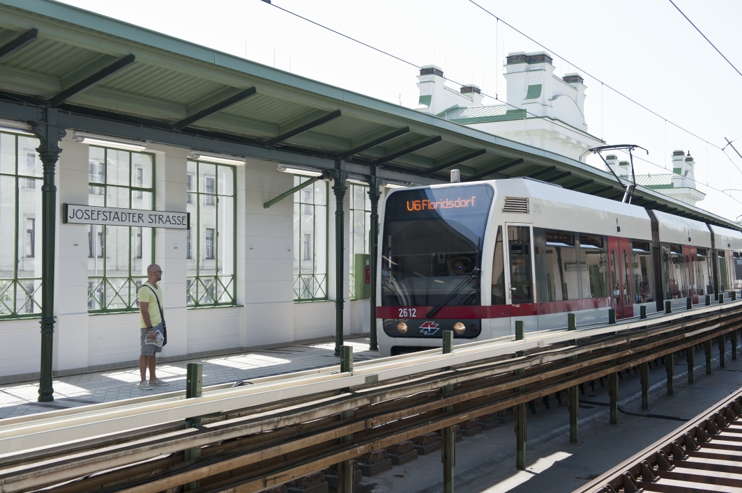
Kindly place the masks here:
POLYGON ((546 279, 549 301, 579 300, 574 234, 546 231, 546 279))

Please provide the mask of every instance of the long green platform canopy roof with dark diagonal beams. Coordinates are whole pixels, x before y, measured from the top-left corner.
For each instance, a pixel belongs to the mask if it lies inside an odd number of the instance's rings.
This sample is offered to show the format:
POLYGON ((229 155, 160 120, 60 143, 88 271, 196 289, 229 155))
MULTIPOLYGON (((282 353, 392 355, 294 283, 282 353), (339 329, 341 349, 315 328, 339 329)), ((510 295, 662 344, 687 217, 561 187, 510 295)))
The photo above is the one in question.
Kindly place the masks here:
MULTIPOLYGON (((0 0, 0 118, 419 185, 530 176, 620 200, 610 173, 51 0, 0 0), (36 32, 34 30, 37 30, 36 32)), ((634 204, 733 228, 649 188, 634 204)))

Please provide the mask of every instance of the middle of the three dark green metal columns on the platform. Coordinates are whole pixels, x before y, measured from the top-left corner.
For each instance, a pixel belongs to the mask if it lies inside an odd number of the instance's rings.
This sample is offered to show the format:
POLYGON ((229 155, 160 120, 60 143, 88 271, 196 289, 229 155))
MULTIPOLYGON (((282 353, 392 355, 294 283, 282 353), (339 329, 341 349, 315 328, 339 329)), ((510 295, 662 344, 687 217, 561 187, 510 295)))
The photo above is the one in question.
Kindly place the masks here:
POLYGON ((345 210, 344 199, 348 191, 345 180, 348 173, 344 171, 345 162, 342 159, 335 161, 335 183, 332 191, 335 192, 335 356, 340 356, 343 347, 343 305, 344 300, 344 257, 345 257, 345 210))

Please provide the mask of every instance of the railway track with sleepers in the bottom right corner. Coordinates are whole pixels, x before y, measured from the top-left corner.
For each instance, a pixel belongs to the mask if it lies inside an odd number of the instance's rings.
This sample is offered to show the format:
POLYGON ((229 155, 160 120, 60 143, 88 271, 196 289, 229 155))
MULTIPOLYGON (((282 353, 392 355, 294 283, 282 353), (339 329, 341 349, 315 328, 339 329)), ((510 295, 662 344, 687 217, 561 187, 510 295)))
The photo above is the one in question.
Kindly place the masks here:
POLYGON ((742 388, 574 493, 742 491, 742 388))

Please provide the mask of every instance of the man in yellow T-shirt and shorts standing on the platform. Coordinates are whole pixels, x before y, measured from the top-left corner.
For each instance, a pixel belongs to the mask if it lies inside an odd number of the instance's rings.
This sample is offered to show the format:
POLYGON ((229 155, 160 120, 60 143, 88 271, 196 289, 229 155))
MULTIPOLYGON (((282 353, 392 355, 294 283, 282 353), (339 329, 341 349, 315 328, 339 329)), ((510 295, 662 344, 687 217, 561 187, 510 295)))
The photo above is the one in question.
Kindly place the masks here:
POLYGON ((147 281, 139 288, 139 343, 142 351, 139 355, 139 376, 142 381, 139 388, 142 390, 152 390, 154 386, 166 386, 163 382, 154 376, 155 354, 162 351, 162 346, 147 344, 148 340, 157 338, 156 332, 159 330, 162 334, 162 289, 160 280, 162 279, 162 269, 160 265, 152 264, 147 267, 147 281), (149 367, 149 381, 146 380, 147 368, 149 367))

